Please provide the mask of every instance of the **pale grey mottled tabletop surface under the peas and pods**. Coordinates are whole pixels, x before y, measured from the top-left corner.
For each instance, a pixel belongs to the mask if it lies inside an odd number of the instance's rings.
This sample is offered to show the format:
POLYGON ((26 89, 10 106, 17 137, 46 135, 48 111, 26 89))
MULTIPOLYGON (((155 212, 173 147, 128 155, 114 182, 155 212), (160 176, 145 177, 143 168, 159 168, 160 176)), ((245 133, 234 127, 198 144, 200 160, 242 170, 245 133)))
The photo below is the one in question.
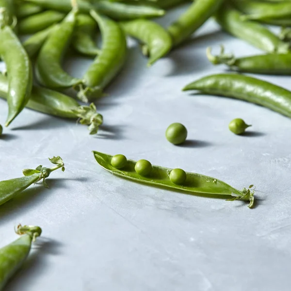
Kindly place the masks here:
MULTIPOLYGON (((137 46, 129 49, 109 96, 97 103, 104 127, 96 137, 74 121, 30 110, 4 129, 0 180, 49 165, 54 155, 66 165, 65 173, 51 174, 49 190, 33 186, 0 208, 1 246, 16 239, 19 222, 43 228, 6 290, 290 290, 291 120, 242 101, 181 92, 190 81, 224 71, 207 61, 207 46, 217 52, 224 43, 238 56, 259 52, 218 32, 212 21, 197 36, 152 68, 137 46), (253 125, 251 134, 227 129, 235 117, 253 125), (172 122, 187 127, 187 146, 164 138, 172 122), (181 167, 239 189, 255 184, 257 207, 114 177, 97 165, 92 150, 181 167)), ((81 76, 90 62, 66 67, 81 76)), ((290 77, 260 78, 291 89, 290 77)), ((0 100, 1 124, 6 114, 0 100)))

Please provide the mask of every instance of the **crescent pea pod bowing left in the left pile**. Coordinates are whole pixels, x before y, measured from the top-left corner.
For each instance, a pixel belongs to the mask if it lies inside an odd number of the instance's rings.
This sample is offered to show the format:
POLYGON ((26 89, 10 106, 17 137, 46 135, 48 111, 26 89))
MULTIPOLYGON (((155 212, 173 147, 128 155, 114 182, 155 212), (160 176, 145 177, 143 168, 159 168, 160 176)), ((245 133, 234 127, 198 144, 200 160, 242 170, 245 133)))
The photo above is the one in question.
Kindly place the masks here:
POLYGON ((62 68, 62 60, 66 49, 70 45, 77 11, 73 9, 58 27, 50 33, 39 51, 35 74, 37 81, 48 88, 69 88, 81 81, 73 78, 62 68))

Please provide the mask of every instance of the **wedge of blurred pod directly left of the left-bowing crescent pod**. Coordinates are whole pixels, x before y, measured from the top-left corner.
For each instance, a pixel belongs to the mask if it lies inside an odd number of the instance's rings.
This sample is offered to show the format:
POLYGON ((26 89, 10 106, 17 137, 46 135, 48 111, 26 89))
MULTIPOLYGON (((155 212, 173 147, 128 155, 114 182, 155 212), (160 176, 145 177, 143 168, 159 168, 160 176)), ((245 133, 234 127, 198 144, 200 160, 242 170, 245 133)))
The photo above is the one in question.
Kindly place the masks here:
POLYGON ((40 32, 36 32, 22 44, 31 59, 37 55, 49 34, 53 32, 56 27, 57 24, 53 24, 40 32))

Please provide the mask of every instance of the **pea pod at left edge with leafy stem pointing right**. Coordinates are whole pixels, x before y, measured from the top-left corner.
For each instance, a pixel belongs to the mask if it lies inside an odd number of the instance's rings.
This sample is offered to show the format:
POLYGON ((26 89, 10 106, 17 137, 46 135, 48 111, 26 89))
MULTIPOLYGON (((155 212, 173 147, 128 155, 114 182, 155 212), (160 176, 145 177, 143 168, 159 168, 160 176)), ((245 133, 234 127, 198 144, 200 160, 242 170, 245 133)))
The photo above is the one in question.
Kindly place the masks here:
POLYGON ((46 168, 40 165, 35 170, 24 169, 24 177, 0 181, 0 205, 6 203, 33 183, 40 180, 43 180, 44 186, 48 188, 45 179, 49 177, 50 173, 59 168, 62 168, 63 172, 65 171, 64 162, 60 157, 53 157, 52 159, 49 159, 49 161, 56 166, 46 168))

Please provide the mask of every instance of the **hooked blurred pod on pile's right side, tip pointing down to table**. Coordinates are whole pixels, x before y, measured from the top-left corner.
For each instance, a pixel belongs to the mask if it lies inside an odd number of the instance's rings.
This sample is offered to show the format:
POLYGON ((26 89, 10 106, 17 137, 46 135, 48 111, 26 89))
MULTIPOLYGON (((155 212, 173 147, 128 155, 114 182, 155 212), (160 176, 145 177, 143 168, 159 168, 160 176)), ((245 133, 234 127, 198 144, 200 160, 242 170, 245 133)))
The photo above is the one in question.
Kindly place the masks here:
POLYGON ((148 66, 153 65, 172 48, 170 34, 154 21, 136 19, 120 24, 127 34, 144 43, 143 51, 148 52, 149 55, 148 66))

